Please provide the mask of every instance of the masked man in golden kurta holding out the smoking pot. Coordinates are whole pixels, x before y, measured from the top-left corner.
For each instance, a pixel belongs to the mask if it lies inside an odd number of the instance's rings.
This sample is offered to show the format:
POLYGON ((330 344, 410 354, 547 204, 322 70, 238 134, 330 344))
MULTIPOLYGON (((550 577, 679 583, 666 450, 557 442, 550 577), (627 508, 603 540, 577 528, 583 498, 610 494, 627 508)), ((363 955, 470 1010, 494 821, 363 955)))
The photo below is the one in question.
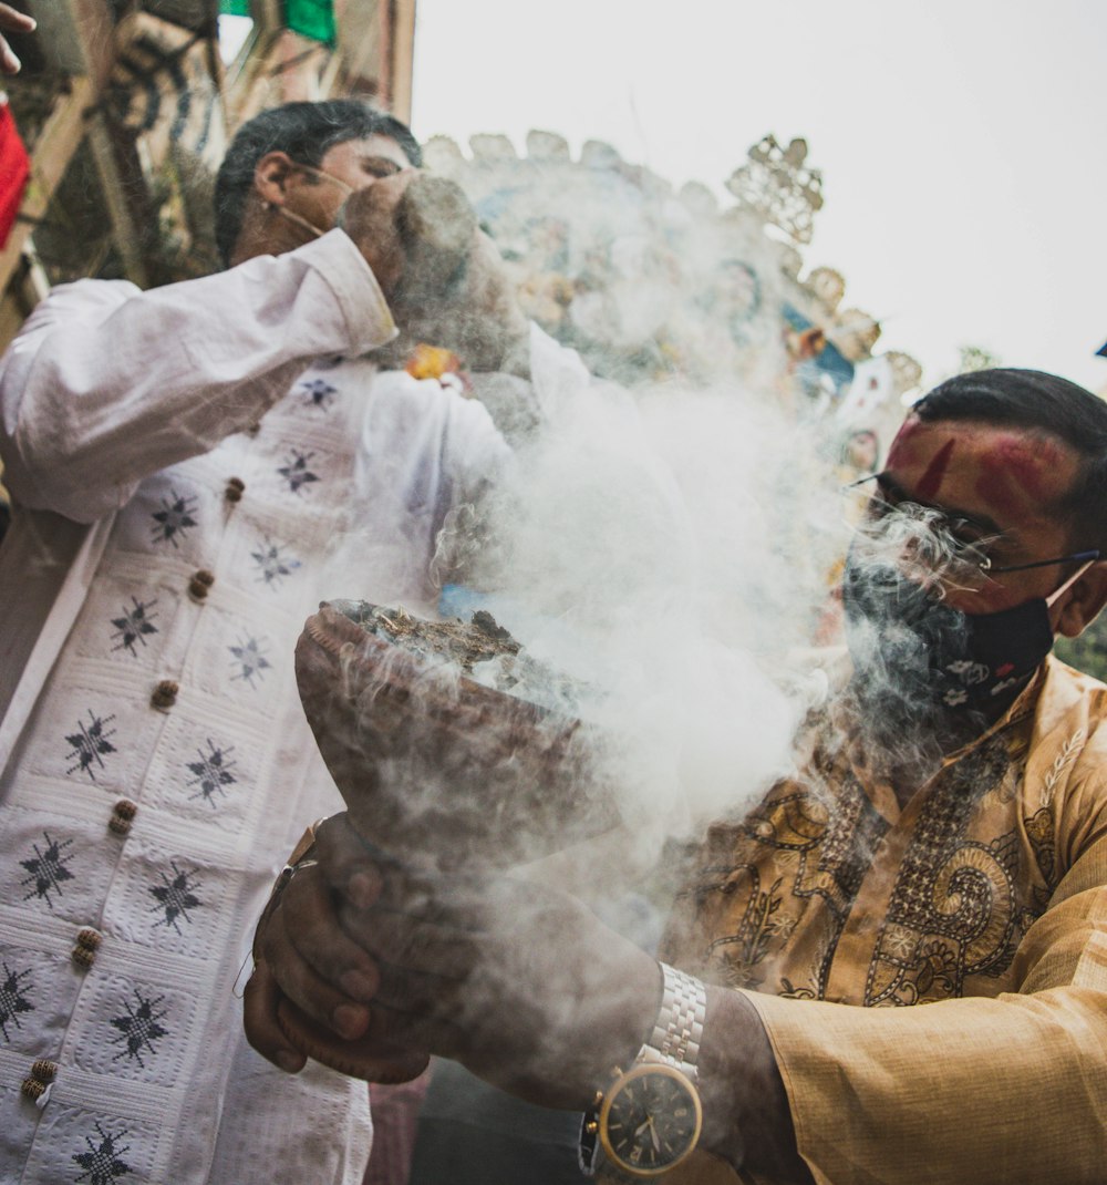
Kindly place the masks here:
POLYGON ((429 895, 335 819, 259 935, 256 1046, 303 1064, 283 991, 371 1046, 599 1102, 604 1180, 1107 1179, 1107 687, 1049 654, 1107 602, 1107 405, 961 376, 871 488, 851 665, 793 774, 700 845, 663 962, 568 893, 429 895), (619 1112, 623 1071, 661 1064, 695 1134, 659 1087, 619 1112))

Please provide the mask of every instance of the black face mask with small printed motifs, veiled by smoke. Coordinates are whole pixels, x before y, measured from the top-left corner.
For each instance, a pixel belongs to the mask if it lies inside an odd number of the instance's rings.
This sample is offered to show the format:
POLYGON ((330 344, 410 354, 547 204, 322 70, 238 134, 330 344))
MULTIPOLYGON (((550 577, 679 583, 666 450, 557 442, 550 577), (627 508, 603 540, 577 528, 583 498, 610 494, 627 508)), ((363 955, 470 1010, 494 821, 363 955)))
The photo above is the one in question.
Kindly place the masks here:
POLYGON ((894 564, 847 557, 845 638, 867 693, 882 688, 944 716, 995 718, 1053 649, 1043 597, 998 613, 966 614, 934 600, 894 564))

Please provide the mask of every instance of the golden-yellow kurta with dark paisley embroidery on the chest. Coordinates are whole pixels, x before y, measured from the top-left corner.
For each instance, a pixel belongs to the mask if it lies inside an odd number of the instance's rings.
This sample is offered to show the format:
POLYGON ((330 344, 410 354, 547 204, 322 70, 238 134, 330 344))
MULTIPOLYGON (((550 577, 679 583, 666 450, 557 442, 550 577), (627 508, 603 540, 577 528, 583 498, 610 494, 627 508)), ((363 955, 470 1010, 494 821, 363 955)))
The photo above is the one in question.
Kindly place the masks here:
POLYGON ((1105 712, 1049 659, 902 809, 826 720, 710 830, 665 956, 748 992, 819 1183, 1107 1180, 1105 712))

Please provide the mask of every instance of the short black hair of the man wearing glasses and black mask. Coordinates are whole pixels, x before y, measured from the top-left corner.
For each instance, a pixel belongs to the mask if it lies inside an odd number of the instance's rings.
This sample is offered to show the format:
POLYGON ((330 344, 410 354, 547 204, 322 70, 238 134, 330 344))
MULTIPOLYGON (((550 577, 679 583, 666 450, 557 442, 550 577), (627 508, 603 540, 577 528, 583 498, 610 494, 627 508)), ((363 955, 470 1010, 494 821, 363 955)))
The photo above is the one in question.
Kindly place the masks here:
POLYGON ((980 370, 935 386, 913 409, 920 419, 976 419, 1048 433, 1081 459, 1058 510, 1070 517, 1073 545, 1107 557, 1107 403, 1043 371, 980 370))

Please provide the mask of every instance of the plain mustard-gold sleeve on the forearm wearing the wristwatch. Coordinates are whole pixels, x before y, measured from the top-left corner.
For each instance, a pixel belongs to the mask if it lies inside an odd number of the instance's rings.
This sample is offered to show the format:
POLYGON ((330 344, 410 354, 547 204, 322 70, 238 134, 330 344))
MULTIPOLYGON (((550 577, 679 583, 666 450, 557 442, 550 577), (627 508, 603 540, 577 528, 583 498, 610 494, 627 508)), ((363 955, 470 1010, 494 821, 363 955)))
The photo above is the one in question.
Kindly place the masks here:
POLYGON ((1102 1179, 1102 992, 912 1008, 746 999, 770 1035, 817 1181, 1102 1179))

